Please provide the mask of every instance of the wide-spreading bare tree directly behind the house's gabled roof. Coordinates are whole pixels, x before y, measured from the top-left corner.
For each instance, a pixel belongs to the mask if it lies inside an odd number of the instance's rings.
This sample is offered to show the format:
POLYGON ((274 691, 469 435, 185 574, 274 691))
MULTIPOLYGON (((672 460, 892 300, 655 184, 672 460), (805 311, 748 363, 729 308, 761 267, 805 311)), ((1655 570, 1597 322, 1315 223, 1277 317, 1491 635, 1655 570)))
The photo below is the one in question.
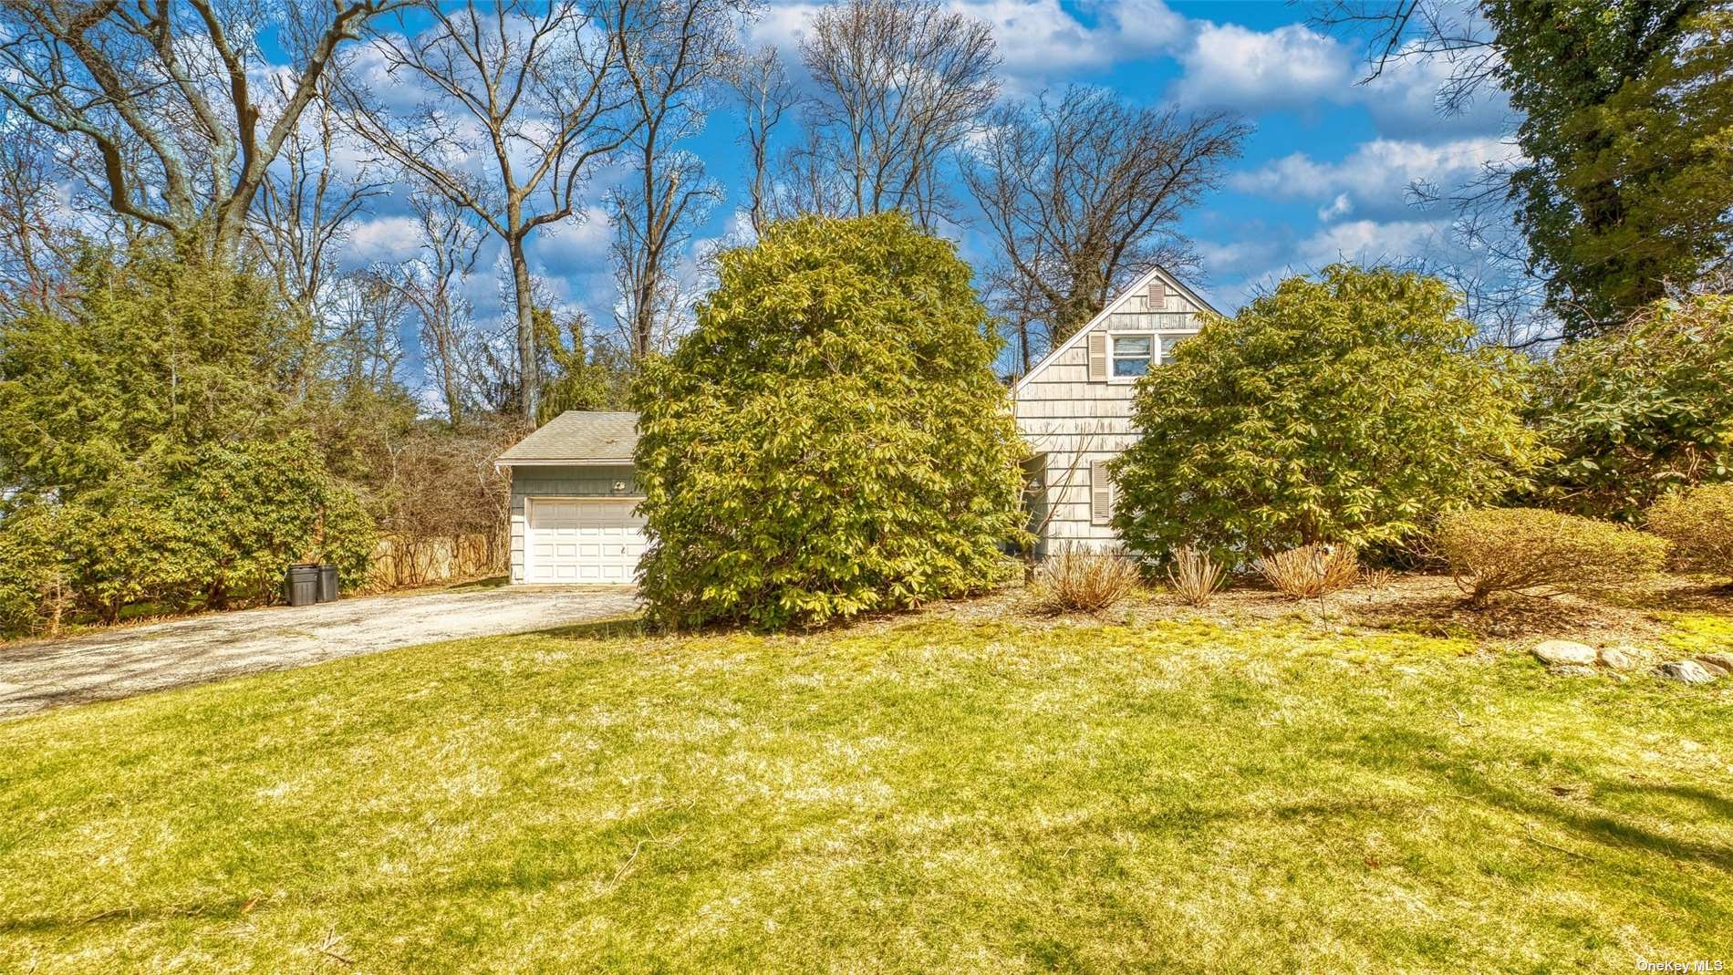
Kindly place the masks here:
POLYGON ((995 298, 1036 341, 1064 341, 1151 265, 1194 263, 1185 206, 1213 187, 1249 128, 1229 114, 1144 109, 1094 88, 1002 106, 964 182, 996 237, 995 298))

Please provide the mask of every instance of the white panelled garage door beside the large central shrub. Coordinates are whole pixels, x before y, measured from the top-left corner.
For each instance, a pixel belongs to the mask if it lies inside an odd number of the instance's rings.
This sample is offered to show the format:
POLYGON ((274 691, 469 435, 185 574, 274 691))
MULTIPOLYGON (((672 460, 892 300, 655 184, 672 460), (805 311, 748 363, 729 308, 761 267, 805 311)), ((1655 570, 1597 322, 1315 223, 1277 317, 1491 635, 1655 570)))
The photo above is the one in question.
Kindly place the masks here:
POLYGON ((529 499, 527 582, 634 582, 645 554, 636 500, 529 499))

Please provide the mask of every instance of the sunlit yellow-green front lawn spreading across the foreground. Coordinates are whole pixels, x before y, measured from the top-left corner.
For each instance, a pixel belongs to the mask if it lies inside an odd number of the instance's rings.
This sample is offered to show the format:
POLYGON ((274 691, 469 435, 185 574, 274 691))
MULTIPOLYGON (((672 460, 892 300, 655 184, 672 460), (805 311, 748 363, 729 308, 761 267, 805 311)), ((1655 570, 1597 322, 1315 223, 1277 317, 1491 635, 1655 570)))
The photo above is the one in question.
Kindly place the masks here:
POLYGON ((1730 764, 1303 623, 447 642, 0 724, 0 972, 1733 963, 1730 764))

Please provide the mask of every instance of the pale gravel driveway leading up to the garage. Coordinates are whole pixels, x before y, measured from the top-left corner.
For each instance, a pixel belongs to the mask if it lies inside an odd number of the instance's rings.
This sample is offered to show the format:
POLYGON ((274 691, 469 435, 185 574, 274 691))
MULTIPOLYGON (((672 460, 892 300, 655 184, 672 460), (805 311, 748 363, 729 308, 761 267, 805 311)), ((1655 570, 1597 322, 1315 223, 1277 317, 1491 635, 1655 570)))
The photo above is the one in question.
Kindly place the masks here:
POLYGON ((208 613, 0 644, 0 719, 395 646, 581 623, 636 606, 636 592, 626 587, 510 585, 208 613))

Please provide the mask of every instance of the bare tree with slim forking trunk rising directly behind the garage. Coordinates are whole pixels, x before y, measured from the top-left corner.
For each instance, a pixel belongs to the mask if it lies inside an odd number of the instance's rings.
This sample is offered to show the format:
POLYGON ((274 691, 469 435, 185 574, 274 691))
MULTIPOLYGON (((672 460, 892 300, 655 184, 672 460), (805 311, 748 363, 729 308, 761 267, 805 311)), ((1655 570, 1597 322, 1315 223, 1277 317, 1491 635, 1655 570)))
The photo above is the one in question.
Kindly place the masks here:
POLYGON ((345 71, 345 121, 381 152, 470 210, 506 246, 516 315, 518 414, 534 419, 534 294, 527 244, 572 220, 594 165, 631 135, 620 125, 619 35, 570 0, 418 5, 432 26, 374 33, 388 74, 430 88, 392 109, 345 71), (477 158, 489 171, 477 171, 477 158))

